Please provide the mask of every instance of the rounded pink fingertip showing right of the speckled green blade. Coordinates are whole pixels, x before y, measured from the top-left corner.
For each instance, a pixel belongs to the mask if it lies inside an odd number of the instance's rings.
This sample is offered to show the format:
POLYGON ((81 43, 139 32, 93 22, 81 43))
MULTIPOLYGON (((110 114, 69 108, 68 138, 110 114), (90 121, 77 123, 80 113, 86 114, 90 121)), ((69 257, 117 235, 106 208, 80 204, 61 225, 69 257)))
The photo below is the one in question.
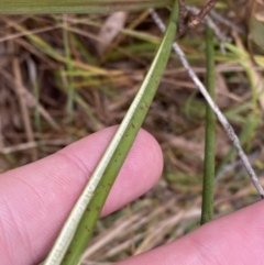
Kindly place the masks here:
POLYGON ((140 130, 119 173, 102 216, 129 203, 150 190, 160 179, 163 170, 163 153, 153 135, 140 130), (123 196, 120 200, 120 196, 123 196))

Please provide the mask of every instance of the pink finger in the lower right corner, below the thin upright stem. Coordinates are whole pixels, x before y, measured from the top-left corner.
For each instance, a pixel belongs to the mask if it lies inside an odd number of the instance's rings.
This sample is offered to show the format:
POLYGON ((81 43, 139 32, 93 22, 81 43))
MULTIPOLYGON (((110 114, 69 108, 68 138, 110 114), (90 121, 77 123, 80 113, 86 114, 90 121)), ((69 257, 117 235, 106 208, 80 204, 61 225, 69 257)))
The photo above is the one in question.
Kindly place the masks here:
POLYGON ((264 201, 257 202, 118 265, 264 264, 263 210, 264 201))

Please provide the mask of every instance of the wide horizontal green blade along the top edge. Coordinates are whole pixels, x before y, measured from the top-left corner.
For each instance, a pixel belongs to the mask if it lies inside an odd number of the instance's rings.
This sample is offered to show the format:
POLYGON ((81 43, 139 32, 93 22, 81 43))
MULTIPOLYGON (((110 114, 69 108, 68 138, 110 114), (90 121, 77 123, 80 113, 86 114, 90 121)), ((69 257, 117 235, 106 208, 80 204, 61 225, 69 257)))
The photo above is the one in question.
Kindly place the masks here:
POLYGON ((172 0, 1 0, 0 14, 111 13, 172 4, 172 0))

